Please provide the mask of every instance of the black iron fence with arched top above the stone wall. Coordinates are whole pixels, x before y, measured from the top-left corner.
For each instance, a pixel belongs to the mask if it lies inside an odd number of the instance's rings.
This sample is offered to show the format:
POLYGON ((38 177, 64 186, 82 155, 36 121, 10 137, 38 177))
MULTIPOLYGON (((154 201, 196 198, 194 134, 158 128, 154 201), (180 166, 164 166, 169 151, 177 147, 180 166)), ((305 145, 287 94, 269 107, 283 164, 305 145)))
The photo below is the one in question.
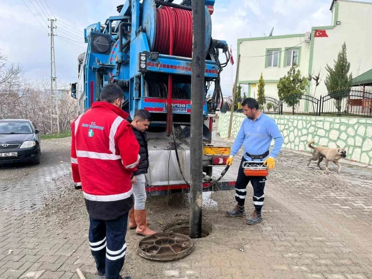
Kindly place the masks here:
POLYGON ((301 94, 265 99, 260 104, 264 113, 372 117, 372 93, 364 91, 346 90, 319 98, 301 94))

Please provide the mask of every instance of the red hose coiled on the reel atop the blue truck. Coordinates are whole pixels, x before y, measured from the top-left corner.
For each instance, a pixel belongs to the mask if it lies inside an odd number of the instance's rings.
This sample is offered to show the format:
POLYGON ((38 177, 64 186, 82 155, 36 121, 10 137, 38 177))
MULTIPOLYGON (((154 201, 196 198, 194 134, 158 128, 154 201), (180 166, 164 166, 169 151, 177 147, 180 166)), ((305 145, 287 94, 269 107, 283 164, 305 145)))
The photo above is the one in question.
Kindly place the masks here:
POLYGON ((191 57, 192 43, 193 14, 191 11, 170 7, 156 9, 155 52, 191 57), (173 43, 170 43, 171 35, 173 35, 173 43))

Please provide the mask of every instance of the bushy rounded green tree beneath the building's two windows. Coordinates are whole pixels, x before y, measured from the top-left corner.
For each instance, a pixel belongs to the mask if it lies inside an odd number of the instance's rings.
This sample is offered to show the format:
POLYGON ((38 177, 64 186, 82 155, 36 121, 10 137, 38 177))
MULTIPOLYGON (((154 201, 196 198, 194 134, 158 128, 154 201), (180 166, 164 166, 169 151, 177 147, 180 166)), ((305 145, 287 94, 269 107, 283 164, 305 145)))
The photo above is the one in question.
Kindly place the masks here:
POLYGON ((301 76, 300 70, 293 65, 286 75, 279 79, 277 85, 278 96, 288 106, 292 107, 292 112, 295 114, 295 108, 300 103, 302 95, 306 91, 307 77, 301 76))

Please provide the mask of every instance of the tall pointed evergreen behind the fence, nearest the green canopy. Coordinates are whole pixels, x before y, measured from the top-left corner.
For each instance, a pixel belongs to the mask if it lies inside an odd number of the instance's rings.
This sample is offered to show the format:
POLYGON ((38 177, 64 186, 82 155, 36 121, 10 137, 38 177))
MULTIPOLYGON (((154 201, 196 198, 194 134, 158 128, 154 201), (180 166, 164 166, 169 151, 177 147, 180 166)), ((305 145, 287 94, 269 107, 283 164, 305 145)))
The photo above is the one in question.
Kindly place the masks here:
POLYGON ((341 115, 342 99, 347 97, 352 88, 353 74, 349 74, 350 62, 347 61, 346 43, 343 43, 335 61, 334 67, 325 67, 328 74, 325 77, 325 86, 328 94, 335 99, 335 106, 338 114, 341 115))

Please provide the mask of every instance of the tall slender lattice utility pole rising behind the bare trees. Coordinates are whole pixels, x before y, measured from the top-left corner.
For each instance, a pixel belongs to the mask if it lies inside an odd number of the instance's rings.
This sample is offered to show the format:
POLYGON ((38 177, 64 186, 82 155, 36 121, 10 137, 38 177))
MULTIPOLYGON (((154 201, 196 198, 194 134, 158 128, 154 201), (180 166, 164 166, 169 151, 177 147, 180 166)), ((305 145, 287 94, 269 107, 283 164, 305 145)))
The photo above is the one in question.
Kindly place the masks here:
POLYGON ((55 72, 55 55, 54 55, 54 29, 53 23, 55 19, 50 21, 50 93, 51 93, 51 112, 50 112, 50 133, 53 133, 53 117, 57 117, 57 132, 59 134, 59 115, 58 115, 58 97, 57 97, 57 75, 55 72), (53 94, 54 93, 54 94, 53 94), (55 112, 53 114, 53 98, 55 98, 55 112))

